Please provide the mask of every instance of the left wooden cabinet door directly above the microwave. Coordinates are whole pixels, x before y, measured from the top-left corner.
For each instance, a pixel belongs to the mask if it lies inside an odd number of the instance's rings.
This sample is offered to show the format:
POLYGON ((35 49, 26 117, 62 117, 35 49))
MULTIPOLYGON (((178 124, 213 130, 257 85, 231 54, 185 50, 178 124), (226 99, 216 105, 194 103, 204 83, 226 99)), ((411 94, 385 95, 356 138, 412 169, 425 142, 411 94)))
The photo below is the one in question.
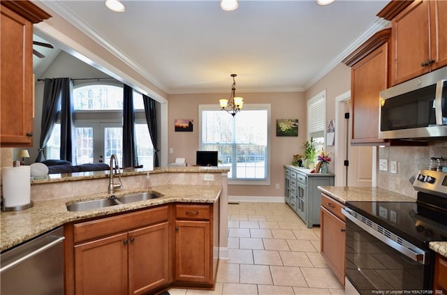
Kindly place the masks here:
POLYGON ((417 0, 393 19, 392 85, 430 70, 429 13, 429 1, 417 0))

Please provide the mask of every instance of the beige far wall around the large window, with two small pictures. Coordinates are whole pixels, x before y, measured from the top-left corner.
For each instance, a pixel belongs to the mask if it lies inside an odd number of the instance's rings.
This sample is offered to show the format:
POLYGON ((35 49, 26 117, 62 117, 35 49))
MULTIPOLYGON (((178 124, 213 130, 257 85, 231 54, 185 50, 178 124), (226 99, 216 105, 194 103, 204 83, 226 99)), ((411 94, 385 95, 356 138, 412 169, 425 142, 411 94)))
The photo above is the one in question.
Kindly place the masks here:
MULTIPOLYGON (((229 91, 229 90, 228 90, 229 91)), ((169 154, 168 162, 175 158, 186 158, 193 165, 196 162, 198 149, 198 105, 218 104, 219 98, 227 97, 229 93, 182 94, 170 95, 168 112, 168 142, 173 153, 169 154), (175 132, 175 119, 193 119, 193 132, 175 132)), ((284 197, 284 164, 290 164, 292 156, 298 152, 306 140, 306 100, 302 92, 277 93, 238 93, 246 104, 271 104, 271 184, 270 186, 228 186, 228 195, 284 197), (277 137, 277 119, 298 119, 298 137, 277 137), (279 189, 276 188, 277 183, 279 189)), ((242 110, 243 112, 243 110, 242 110)), ((230 114, 228 114, 230 116, 230 114)), ((236 115, 237 116, 237 115, 236 115)))

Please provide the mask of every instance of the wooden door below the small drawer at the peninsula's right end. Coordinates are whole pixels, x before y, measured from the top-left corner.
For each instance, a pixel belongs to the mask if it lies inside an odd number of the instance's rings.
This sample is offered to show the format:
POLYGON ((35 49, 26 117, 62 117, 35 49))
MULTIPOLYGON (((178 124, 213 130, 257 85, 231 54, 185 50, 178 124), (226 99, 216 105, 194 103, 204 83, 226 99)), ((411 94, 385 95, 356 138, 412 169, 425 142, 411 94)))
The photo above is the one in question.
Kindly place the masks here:
POLYGON ((212 282, 210 222, 175 222, 175 280, 212 282))

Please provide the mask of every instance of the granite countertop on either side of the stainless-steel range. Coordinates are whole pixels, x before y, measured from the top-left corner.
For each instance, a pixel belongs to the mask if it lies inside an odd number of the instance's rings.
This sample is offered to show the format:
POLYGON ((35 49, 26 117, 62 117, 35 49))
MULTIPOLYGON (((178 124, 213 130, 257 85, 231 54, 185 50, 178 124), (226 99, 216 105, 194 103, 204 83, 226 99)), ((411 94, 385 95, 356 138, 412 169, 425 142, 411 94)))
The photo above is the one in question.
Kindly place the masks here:
MULTIPOLYGON (((336 199, 342 204, 347 201, 364 202, 416 202, 416 199, 400 195, 383 188, 350 187, 350 186, 318 186, 318 190, 336 199)), ((430 242, 430 249, 447 257, 447 242, 430 242)))

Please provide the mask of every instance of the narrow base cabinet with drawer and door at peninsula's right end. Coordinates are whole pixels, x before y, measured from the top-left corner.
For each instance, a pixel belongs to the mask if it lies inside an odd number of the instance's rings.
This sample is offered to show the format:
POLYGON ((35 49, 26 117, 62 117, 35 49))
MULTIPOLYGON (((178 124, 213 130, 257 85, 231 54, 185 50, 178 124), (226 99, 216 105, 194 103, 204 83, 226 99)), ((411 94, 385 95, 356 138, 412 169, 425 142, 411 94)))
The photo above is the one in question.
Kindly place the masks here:
POLYGON ((214 284, 212 206, 175 205, 176 282, 214 284))

